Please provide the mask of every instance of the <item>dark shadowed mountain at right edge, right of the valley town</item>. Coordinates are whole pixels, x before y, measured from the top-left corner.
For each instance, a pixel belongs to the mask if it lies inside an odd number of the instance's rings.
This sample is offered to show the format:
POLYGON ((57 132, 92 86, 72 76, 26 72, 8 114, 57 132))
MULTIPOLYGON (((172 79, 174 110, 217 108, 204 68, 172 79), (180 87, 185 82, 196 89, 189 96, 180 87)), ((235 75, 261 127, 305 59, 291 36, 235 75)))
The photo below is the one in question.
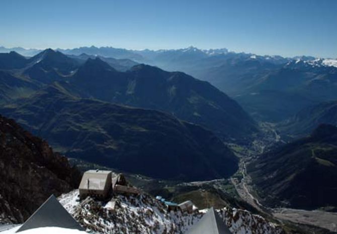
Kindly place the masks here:
POLYGON ((309 137, 261 155, 247 166, 271 206, 337 207, 337 128, 320 125, 309 137))

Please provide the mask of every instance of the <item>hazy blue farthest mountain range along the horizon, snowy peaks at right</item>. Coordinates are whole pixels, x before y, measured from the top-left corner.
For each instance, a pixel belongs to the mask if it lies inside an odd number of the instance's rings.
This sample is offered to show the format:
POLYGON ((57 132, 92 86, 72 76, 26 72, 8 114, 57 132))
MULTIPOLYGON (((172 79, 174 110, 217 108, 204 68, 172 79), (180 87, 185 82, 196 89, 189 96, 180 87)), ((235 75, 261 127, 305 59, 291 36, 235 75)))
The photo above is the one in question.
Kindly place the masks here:
POLYGON ((73 58, 99 57, 119 71, 146 63, 167 71, 186 72, 234 98, 258 121, 283 121, 299 109, 337 98, 337 59, 259 56, 195 47, 153 51, 91 46, 58 51, 73 58))

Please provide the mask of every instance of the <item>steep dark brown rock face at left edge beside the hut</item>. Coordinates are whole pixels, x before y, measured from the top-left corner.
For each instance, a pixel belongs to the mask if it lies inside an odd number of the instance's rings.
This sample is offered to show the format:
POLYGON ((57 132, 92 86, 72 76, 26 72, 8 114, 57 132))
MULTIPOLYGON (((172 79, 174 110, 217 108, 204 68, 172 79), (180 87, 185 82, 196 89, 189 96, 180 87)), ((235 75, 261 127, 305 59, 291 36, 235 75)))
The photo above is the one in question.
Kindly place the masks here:
POLYGON ((47 142, 0 115, 0 178, 0 223, 18 223, 51 194, 76 187, 80 173, 47 142))

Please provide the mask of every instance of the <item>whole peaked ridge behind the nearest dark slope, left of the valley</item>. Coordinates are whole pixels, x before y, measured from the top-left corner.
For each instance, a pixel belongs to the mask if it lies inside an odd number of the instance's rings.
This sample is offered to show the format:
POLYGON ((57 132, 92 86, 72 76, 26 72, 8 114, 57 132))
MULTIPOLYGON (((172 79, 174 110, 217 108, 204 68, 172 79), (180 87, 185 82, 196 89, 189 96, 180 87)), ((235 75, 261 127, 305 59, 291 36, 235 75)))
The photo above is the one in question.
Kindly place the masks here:
MULTIPOLYGON (((6 60, 12 54, 2 56, 6 60)), ((51 49, 26 62, 22 57, 16 59, 23 66, 9 73, 40 87, 66 81, 82 97, 169 112, 204 126, 223 139, 249 138, 258 133, 256 123, 234 100, 208 82, 182 72, 166 72, 144 64, 120 72, 99 57, 80 63, 51 49)), ((12 67, 0 68, 8 71, 12 67)), ((2 92, 7 92, 6 87, 2 92)))

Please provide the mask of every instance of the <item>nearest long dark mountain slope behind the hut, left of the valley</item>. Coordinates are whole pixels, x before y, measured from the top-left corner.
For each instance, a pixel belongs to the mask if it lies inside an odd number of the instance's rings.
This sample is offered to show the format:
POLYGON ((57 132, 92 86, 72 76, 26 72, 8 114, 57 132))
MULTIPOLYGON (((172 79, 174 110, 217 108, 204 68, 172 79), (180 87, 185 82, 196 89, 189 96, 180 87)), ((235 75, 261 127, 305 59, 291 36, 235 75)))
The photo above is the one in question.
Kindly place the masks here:
POLYGON ((227 177, 237 158, 211 132, 155 110, 80 99, 49 86, 1 108, 68 157, 156 178, 227 177))

